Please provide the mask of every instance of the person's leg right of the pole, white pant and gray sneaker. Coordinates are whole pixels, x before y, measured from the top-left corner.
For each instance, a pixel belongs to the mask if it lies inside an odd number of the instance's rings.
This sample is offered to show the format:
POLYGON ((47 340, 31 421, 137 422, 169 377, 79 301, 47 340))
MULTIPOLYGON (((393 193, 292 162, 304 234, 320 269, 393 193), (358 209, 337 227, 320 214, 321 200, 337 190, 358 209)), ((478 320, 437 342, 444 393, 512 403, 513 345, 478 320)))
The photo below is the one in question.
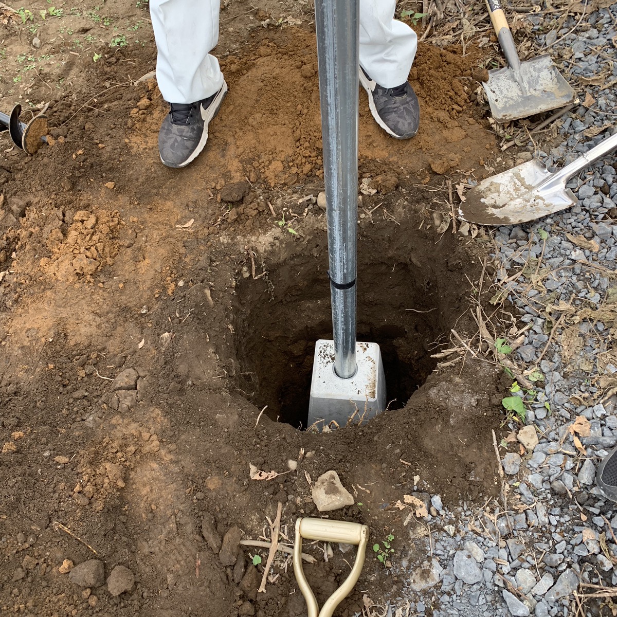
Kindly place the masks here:
POLYGON ((360 0, 360 83, 373 118, 389 135, 418 132, 420 106, 407 77, 418 37, 394 19, 395 0, 360 0))

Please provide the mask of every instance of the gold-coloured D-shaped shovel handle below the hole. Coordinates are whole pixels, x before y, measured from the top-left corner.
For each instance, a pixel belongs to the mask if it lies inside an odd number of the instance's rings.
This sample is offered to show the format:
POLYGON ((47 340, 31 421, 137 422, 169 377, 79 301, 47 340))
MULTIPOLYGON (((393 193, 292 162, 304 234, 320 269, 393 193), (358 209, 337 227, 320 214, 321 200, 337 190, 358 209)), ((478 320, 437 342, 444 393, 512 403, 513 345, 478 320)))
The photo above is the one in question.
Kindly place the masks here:
POLYGON ((332 617, 334 610, 352 590, 352 587, 360 578, 366 544, 368 543, 368 526, 360 523, 347 523, 347 521, 329 521, 323 518, 299 518, 296 521, 296 542, 294 544, 294 571, 300 591, 307 602, 309 617, 332 617), (349 576, 319 610, 315 594, 310 588, 309 582, 302 569, 302 538, 307 540, 321 540, 322 542, 341 542, 342 544, 355 544, 358 553, 355 557, 354 567, 349 576))

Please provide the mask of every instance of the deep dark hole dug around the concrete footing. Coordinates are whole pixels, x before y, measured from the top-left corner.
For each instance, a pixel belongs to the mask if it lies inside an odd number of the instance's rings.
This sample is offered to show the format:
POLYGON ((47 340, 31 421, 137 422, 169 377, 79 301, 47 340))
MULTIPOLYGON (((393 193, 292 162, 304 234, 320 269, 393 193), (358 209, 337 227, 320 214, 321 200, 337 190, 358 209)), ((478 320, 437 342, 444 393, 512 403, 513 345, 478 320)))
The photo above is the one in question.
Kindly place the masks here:
MULTIPOLYGON (((399 251, 384 255, 374 240, 358 241, 357 339, 381 348, 391 409, 404 407, 426 381, 437 364, 431 354, 460 315, 453 307, 465 291, 451 283, 444 255, 430 259, 429 242, 424 251, 406 238, 399 251)), ((260 409, 267 405, 272 420, 300 429, 307 423, 315 341, 332 338, 325 234, 311 244, 312 251, 271 263, 267 279, 239 280, 234 319, 238 391, 260 409)))

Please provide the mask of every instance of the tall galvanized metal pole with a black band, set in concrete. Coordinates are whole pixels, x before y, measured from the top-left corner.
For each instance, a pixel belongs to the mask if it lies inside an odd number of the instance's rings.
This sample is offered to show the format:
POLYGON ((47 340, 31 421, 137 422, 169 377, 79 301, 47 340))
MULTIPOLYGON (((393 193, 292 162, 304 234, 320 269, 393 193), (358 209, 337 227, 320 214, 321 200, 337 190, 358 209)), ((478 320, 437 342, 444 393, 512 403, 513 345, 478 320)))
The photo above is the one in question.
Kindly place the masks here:
POLYGON ((315 0, 334 370, 356 371, 358 0, 315 0))

